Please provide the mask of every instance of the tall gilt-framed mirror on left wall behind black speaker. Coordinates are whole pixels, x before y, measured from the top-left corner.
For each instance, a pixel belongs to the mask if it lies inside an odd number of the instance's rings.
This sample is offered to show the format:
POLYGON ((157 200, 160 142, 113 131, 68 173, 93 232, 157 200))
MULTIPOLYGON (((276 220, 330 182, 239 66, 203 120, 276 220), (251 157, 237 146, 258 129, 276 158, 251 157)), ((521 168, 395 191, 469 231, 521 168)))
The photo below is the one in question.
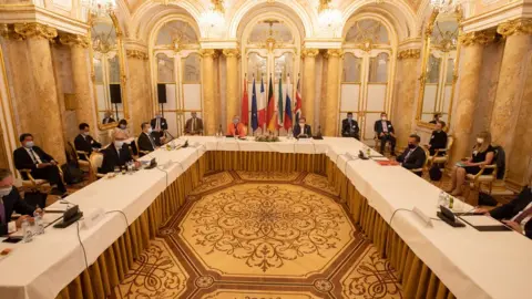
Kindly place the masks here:
POLYGON ((91 63, 94 101, 100 130, 127 118, 122 33, 116 17, 92 17, 91 63))

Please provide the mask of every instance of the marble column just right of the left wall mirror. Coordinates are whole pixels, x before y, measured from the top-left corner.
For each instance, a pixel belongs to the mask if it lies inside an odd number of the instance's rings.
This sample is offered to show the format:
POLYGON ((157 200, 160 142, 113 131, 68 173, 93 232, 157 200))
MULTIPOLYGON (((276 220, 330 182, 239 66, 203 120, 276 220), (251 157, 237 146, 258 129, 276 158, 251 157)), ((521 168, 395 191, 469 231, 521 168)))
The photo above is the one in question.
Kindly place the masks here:
POLYGON ((153 117, 147 54, 140 50, 126 50, 125 55, 127 58, 125 87, 127 90, 129 126, 133 134, 139 135, 142 132, 141 124, 153 117))

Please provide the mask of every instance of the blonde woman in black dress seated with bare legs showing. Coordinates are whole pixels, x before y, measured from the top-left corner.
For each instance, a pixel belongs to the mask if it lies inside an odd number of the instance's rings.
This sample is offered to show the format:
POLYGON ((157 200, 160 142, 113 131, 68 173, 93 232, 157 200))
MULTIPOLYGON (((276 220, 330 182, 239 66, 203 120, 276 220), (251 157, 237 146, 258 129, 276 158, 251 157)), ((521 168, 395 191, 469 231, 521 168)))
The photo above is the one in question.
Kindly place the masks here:
MULTIPOLYGON (((451 173, 451 189, 448 192, 453 196, 462 194, 462 185, 467 174, 478 174, 482 166, 494 163, 495 151, 491 146, 491 134, 481 132, 477 135, 477 143, 470 158, 458 162, 451 173)), ((483 175, 491 174, 493 169, 484 169, 483 175)))

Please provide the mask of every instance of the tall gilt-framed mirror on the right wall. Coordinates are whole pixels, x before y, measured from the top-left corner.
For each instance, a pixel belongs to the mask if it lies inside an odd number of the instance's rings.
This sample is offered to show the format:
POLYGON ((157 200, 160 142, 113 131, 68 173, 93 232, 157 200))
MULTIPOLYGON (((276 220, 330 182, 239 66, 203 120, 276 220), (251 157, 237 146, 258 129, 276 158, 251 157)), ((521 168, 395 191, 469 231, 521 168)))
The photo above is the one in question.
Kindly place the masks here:
POLYGON ((424 55, 420 78, 417 120, 423 125, 434 125, 436 117, 449 127, 460 55, 460 11, 433 12, 424 35, 424 55))

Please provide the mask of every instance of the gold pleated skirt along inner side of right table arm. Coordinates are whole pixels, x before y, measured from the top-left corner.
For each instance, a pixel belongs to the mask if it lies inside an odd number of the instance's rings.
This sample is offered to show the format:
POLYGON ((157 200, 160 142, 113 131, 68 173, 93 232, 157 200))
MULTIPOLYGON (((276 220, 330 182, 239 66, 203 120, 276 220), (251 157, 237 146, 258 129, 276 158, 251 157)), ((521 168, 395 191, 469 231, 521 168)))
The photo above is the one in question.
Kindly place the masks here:
POLYGON ((355 223, 397 270, 405 298, 456 298, 330 161, 327 177, 329 184, 339 192, 340 200, 347 204, 355 223))

